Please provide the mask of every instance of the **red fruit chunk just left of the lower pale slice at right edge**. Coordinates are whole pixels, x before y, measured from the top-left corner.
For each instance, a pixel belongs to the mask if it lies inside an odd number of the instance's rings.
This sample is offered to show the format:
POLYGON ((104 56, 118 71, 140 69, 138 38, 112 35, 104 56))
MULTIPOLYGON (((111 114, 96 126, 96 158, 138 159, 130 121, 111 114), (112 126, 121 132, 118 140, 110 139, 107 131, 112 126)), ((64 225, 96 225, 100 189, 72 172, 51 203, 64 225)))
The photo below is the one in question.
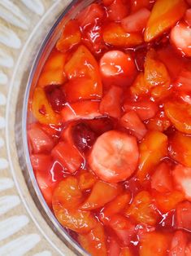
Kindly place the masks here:
POLYGON ((162 162, 154 170, 154 174, 151 177, 151 188, 162 193, 172 191, 171 169, 166 162, 162 162))

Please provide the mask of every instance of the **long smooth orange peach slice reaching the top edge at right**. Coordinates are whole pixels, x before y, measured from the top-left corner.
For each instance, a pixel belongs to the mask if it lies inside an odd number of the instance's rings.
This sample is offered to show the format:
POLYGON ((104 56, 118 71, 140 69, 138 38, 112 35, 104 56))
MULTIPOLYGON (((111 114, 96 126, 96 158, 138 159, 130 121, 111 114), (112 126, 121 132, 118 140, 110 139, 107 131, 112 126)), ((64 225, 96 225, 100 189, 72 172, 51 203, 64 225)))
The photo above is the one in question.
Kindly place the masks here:
POLYGON ((158 38, 176 24, 186 11, 184 0, 157 0, 145 29, 145 42, 158 38))

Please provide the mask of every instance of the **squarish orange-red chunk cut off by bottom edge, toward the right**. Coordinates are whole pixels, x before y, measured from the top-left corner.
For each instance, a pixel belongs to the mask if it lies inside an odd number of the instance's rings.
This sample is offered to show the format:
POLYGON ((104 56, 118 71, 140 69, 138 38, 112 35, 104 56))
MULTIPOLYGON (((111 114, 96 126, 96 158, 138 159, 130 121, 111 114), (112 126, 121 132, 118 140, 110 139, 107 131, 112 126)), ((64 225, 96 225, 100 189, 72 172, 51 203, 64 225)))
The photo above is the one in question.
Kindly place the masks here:
POLYGON ((145 233, 140 242, 140 256, 166 256, 169 243, 171 243, 171 234, 169 233, 145 233))

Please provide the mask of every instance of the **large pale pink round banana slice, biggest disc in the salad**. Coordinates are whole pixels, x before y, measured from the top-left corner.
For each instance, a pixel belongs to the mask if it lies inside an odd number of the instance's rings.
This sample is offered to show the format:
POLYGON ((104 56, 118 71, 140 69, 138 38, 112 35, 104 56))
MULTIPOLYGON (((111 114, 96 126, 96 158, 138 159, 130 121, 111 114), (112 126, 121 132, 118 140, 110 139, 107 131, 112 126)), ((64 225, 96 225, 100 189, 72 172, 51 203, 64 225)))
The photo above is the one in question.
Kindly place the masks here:
POLYGON ((138 157, 137 140, 134 137, 110 130, 94 143, 89 155, 89 166, 100 179, 118 183, 128 179, 136 170, 138 157))

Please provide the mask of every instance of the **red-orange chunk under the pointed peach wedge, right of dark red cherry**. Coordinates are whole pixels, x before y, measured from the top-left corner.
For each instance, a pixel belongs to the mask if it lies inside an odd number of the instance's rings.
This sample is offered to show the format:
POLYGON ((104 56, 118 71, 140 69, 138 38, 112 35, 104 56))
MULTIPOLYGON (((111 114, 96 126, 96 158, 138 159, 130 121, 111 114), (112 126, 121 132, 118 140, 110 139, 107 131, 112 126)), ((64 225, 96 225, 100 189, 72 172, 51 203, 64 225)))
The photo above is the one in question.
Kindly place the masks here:
POLYGON ((91 78, 87 77, 75 78, 65 83, 63 91, 69 103, 85 99, 100 99, 102 97, 99 86, 96 86, 91 78))

